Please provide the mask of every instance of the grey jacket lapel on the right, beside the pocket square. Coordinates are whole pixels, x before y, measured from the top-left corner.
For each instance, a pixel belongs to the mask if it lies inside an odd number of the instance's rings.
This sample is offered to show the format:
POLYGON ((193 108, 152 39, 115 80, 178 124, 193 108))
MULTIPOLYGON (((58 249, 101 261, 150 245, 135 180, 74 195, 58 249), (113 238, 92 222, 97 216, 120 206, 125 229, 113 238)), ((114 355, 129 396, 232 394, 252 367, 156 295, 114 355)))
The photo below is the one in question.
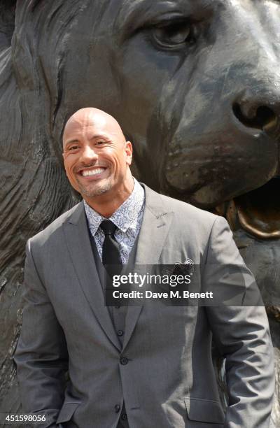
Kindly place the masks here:
MULTIPOLYGON (((146 185, 143 186, 145 189, 145 210, 139 232, 135 264, 158 264, 174 213, 165 209, 160 194, 146 185)), ((143 305, 128 306, 127 308, 123 348, 132 336, 142 308, 143 305)))

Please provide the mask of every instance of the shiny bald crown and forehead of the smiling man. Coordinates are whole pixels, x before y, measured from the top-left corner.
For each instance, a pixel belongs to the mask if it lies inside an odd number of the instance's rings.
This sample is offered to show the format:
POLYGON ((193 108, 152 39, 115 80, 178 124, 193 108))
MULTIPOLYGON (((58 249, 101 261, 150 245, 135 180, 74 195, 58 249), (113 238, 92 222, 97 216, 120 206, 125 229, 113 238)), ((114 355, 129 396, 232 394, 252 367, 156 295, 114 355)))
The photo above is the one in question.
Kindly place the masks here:
POLYGON ((77 129, 85 132, 89 127, 97 130, 106 130, 106 132, 118 138, 119 141, 125 143, 123 131, 113 116, 103 110, 99 110, 99 108, 86 107, 77 110, 66 122, 63 133, 63 147, 77 129))

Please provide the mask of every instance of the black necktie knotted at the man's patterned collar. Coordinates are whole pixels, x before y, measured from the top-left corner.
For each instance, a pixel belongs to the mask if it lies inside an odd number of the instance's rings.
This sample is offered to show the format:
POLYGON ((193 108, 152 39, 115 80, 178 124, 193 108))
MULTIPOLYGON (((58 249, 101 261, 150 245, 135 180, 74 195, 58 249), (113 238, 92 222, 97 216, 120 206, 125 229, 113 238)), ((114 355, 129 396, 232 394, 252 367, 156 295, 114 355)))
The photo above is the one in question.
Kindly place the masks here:
POLYGON ((111 220, 104 220, 100 227, 105 235, 102 246, 102 263, 109 275, 113 277, 113 275, 120 274, 123 267, 120 259, 120 245, 114 236, 117 227, 111 220))

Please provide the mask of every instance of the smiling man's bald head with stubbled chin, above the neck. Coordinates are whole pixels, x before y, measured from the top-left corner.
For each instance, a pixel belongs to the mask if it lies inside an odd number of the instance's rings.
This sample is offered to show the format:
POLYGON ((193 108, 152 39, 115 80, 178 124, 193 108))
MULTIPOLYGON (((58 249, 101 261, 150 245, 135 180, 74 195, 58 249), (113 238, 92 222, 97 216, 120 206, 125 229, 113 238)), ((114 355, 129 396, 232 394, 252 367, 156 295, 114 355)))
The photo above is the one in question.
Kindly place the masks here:
POLYGON ((123 199, 130 193, 132 144, 110 115, 94 108, 78 110, 66 123, 63 150, 66 175, 90 205, 104 194, 123 199))

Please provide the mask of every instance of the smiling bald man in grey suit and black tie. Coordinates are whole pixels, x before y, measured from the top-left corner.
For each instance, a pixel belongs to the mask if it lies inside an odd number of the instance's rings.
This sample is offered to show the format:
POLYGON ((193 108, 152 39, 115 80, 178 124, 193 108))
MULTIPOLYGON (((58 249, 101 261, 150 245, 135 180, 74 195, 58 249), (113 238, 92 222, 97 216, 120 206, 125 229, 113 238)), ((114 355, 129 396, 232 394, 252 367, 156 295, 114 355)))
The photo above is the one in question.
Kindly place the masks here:
POLYGON ((112 266, 189 262, 200 264, 200 287, 232 285, 246 301, 257 287, 225 219, 138 183, 132 143, 101 110, 69 119, 63 159, 83 200, 27 242, 15 352, 23 410, 45 418, 41 427, 268 428, 274 371, 262 306, 104 305, 112 266), (225 357, 225 415, 212 337, 225 357))

